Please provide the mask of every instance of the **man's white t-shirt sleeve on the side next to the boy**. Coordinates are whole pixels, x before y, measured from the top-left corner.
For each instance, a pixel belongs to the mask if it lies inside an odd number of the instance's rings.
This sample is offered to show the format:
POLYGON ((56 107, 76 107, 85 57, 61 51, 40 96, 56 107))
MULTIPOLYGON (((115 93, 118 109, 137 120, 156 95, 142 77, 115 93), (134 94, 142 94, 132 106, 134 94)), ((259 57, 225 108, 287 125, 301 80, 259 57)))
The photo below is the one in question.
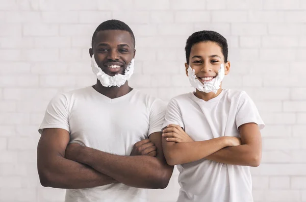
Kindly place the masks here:
POLYGON ((154 100, 150 109, 148 136, 152 133, 162 131, 162 125, 165 120, 166 106, 167 104, 163 100, 154 100))

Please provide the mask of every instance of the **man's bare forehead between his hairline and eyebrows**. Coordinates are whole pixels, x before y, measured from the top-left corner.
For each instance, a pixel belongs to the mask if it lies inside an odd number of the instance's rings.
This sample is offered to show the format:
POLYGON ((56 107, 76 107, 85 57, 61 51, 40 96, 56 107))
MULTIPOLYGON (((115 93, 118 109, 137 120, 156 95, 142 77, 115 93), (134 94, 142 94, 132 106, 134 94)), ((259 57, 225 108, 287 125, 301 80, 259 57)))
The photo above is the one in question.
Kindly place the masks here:
POLYGON ((124 30, 104 30, 99 31, 94 39, 94 46, 99 43, 107 43, 110 45, 127 44, 133 47, 132 36, 124 30))

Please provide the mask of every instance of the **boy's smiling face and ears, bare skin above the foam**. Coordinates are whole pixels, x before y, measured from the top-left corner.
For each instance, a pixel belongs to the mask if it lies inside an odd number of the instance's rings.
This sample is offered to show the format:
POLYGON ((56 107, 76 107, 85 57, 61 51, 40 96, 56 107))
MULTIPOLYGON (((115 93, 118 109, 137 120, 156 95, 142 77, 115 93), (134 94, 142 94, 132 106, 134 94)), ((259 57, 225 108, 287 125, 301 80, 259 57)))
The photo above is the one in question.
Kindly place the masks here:
MULTIPOLYGON (((217 43, 198 42, 191 47, 189 64, 185 63, 186 75, 188 77, 187 69, 191 66, 201 83, 210 82, 217 76, 221 64, 224 64, 224 56, 217 43)), ((230 66, 230 62, 224 64, 225 75, 230 72, 230 66)))

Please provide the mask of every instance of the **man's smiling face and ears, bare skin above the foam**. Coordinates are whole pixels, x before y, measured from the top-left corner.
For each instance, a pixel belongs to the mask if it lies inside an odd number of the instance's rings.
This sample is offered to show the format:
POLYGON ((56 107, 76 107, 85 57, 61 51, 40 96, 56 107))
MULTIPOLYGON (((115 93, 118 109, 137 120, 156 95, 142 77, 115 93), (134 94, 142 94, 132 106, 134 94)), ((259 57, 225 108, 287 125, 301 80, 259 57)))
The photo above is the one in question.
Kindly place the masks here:
POLYGON ((132 36, 127 31, 105 30, 97 33, 90 57, 94 54, 98 66, 108 75, 124 74, 135 56, 132 36))

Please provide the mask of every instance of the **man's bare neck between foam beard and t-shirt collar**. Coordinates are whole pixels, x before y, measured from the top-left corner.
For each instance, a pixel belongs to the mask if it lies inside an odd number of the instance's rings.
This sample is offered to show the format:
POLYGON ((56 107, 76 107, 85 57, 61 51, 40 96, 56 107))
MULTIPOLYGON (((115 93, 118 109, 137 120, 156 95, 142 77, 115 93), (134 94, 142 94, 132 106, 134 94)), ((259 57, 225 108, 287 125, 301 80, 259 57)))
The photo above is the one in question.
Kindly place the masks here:
POLYGON ((100 83, 99 80, 97 80, 97 83, 95 85, 92 86, 96 91, 98 91, 99 93, 113 99, 113 98, 117 98, 117 97, 121 97, 129 92, 131 92, 133 90, 133 88, 131 88, 129 86, 129 84, 127 83, 127 81, 125 82, 125 84, 123 84, 120 87, 116 87, 116 86, 111 86, 111 87, 104 87, 102 86, 102 84, 100 83))

